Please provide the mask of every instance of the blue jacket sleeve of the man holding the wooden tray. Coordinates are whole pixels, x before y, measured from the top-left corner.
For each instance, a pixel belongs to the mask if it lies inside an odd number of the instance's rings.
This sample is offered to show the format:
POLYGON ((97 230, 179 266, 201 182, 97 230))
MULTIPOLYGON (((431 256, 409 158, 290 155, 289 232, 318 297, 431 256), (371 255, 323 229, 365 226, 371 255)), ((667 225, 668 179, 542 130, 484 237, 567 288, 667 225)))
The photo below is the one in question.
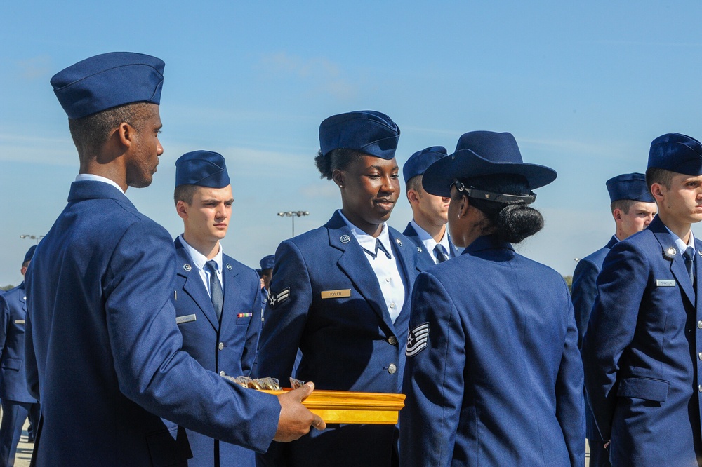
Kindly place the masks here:
POLYGON ((159 417, 264 452, 277 431, 279 402, 204 370, 180 351, 170 297, 175 271, 168 232, 150 222, 135 222, 112 252, 102 287, 119 389, 159 417))

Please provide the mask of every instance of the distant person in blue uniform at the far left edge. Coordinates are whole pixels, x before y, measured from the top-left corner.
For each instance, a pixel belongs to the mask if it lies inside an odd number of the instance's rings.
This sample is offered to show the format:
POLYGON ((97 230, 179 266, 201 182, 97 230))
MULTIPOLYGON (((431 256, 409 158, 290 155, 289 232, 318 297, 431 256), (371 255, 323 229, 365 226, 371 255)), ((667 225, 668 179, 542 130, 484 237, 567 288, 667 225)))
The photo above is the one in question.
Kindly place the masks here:
MULTIPOLYGON (((22 262, 25 276, 37 245, 27 250, 22 262)), ((27 314, 25 283, 22 282, 0 297, 0 465, 15 465, 15 453, 22 435, 22 425, 29 416, 32 426, 39 421, 39 402, 27 392, 25 377, 25 315, 27 314)), ((32 433, 30 433, 30 436, 32 433)))

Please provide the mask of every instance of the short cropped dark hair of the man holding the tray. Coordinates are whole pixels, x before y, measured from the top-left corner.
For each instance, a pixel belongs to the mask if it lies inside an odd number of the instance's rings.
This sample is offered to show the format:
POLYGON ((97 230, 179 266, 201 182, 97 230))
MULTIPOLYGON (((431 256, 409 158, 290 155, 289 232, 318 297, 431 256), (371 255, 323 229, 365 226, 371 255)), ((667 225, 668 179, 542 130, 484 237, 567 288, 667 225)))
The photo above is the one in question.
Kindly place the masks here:
POLYGON ((107 142, 110 133, 121 123, 128 123, 135 130, 143 128, 144 122, 150 116, 148 104, 137 102, 126 104, 112 109, 107 109, 97 114, 68 119, 68 128, 71 130, 73 142, 82 156, 94 156, 107 142))

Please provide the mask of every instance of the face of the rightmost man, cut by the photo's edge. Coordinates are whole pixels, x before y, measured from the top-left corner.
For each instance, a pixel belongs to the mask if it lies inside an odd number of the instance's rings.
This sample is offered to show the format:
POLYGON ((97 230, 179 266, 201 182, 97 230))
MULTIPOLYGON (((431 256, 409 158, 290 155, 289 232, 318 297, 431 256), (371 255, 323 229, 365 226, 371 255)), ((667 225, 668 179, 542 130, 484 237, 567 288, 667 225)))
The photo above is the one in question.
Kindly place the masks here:
MULTIPOLYGON (((656 184, 654 184, 654 187, 656 184)), ((658 185, 660 191, 652 190, 661 215, 677 224, 694 224, 702 221, 702 175, 676 174, 670 181, 670 189, 658 185)))

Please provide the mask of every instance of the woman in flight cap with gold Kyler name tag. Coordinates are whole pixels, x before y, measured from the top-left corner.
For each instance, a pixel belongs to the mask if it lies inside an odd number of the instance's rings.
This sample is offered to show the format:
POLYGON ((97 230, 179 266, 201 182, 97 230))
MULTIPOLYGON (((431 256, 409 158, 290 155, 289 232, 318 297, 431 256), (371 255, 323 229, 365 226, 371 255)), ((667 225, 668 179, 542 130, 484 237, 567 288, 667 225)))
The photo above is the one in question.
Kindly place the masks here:
MULTIPOLYGON (((258 375, 318 389, 397 393, 402 386, 416 247, 385 222, 399 197, 399 128, 355 111, 319 127, 315 159, 342 208, 324 226, 281 243, 260 339, 258 375)), ((393 425, 328 426, 266 454, 274 465, 392 466, 393 425)))

